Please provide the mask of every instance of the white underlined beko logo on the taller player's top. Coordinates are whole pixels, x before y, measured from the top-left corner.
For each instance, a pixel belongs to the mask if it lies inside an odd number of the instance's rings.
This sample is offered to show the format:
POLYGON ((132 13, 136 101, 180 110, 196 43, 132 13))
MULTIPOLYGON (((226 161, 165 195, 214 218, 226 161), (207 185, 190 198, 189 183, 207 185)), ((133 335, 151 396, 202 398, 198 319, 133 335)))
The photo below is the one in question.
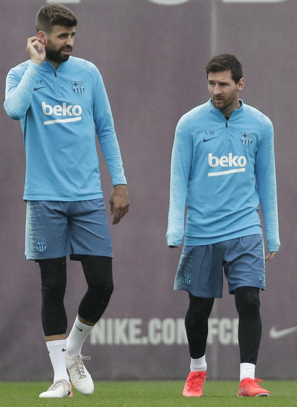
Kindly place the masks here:
POLYGON ((55 123, 68 123, 68 122, 77 122, 81 120, 81 113, 82 109, 79 105, 68 105, 66 102, 62 103, 61 105, 47 105, 46 102, 42 102, 42 113, 46 116, 51 116, 54 114, 55 116, 70 116, 67 119, 54 119, 54 120, 46 120, 43 122, 44 125, 52 125, 55 123), (74 117, 71 117, 74 116, 74 117))

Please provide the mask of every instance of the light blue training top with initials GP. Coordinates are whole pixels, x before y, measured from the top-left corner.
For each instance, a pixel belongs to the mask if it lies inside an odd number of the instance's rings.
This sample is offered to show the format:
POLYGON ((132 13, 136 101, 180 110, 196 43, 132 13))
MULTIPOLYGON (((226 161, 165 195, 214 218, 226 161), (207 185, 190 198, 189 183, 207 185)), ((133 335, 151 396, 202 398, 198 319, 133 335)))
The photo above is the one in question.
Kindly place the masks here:
POLYGON ((20 120, 26 149, 25 200, 102 197, 97 132, 112 184, 126 184, 108 96, 92 63, 69 57, 12 68, 4 108, 20 120))

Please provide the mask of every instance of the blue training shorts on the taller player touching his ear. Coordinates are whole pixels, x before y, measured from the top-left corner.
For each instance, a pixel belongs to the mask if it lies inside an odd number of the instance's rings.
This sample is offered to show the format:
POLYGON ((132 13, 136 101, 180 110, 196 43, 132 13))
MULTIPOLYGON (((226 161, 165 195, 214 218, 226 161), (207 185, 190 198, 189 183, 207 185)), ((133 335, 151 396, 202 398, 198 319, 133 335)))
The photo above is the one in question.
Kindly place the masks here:
POLYGON ((103 199, 27 201, 26 260, 80 254, 113 257, 103 199))

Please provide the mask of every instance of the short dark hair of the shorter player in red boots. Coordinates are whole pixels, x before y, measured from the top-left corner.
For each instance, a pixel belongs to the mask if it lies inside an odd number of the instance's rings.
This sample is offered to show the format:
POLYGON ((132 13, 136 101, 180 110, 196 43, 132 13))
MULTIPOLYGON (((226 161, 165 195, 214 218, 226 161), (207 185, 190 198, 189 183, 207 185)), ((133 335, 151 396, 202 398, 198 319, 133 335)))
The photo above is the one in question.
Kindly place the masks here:
POLYGON ((211 58, 206 68, 207 78, 209 72, 220 72, 231 70, 231 77, 235 83, 242 78, 242 65, 234 55, 220 54, 211 58))

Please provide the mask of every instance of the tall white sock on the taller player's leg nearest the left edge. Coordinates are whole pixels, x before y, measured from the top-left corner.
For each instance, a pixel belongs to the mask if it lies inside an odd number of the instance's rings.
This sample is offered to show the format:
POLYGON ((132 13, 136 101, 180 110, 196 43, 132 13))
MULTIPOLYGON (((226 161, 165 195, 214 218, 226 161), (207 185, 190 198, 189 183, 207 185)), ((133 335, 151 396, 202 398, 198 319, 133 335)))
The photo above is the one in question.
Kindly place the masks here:
POLYGON ((54 369, 54 382, 64 379, 69 383, 66 368, 66 339, 46 342, 46 347, 54 369))

